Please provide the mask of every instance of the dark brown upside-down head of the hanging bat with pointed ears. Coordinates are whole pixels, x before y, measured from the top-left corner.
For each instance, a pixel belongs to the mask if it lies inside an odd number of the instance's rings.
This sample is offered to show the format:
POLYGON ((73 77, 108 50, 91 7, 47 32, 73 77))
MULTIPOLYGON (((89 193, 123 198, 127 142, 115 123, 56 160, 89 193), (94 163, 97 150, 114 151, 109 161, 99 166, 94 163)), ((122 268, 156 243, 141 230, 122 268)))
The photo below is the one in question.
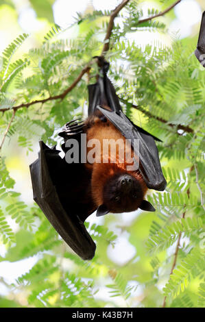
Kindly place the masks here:
POLYGON ((145 189, 139 179, 134 176, 118 174, 106 182, 103 190, 103 203, 97 209, 97 216, 108 212, 131 212, 138 208, 154 211, 148 201, 143 200, 145 189))

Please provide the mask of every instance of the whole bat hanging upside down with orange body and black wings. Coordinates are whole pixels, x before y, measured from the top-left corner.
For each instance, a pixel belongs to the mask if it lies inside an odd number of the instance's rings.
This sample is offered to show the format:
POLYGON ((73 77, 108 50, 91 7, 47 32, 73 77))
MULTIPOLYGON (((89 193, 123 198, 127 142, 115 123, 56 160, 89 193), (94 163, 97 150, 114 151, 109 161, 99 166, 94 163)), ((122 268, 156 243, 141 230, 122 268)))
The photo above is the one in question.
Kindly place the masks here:
POLYGON ((97 210, 97 216, 103 216, 138 208, 155 211, 145 200, 145 193, 148 188, 162 191, 167 184, 155 143, 158 138, 123 114, 107 77, 109 63, 98 58, 98 64, 97 82, 88 85, 88 118, 70 121, 59 133, 64 138, 64 158, 60 158, 56 147, 49 148, 40 141, 38 159, 30 165, 34 200, 84 260, 91 260, 96 249, 84 226, 90 214, 97 210), (104 140, 110 139, 121 140, 121 144, 116 145, 114 153, 111 147, 104 153, 104 140), (99 146, 91 162, 93 140, 99 146), (74 154, 77 162, 73 162, 74 154))

